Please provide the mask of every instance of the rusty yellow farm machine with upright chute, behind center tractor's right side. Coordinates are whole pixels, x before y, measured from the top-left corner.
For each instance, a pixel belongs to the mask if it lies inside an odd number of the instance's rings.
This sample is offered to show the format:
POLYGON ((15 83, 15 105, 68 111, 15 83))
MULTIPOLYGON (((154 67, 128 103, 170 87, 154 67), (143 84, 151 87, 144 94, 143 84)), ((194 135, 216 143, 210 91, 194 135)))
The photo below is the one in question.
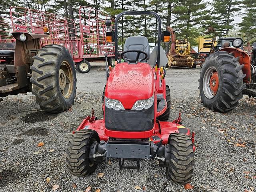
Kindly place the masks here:
POLYGON ((194 58, 190 55, 190 43, 188 40, 176 40, 175 31, 168 27, 168 31, 172 34, 171 36, 171 48, 168 52, 168 64, 166 67, 188 67, 196 68, 194 58))

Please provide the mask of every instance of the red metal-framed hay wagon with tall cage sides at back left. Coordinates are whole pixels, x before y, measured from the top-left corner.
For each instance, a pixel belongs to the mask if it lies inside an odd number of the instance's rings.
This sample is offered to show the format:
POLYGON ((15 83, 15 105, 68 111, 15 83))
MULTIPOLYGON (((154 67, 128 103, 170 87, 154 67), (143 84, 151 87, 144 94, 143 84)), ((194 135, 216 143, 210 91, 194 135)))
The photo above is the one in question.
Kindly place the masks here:
POLYGON ((105 20, 114 19, 90 7, 80 6, 78 11, 77 18, 71 20, 40 10, 10 7, 10 17, 0 19, 0 42, 13 42, 11 32, 47 33, 50 36, 42 38, 42 45, 68 48, 79 72, 89 72, 92 61, 104 61, 106 52, 110 65, 114 62, 114 44, 104 39, 105 20))

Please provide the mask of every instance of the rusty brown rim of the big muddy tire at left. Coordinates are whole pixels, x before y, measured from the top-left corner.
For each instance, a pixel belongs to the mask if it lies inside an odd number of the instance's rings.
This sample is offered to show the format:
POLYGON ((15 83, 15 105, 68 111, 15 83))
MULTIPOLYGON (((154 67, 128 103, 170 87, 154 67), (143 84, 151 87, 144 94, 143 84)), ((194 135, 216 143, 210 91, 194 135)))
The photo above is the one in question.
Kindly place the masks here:
POLYGON ((59 87, 62 95, 69 98, 73 90, 73 73, 70 64, 66 61, 60 65, 59 87))

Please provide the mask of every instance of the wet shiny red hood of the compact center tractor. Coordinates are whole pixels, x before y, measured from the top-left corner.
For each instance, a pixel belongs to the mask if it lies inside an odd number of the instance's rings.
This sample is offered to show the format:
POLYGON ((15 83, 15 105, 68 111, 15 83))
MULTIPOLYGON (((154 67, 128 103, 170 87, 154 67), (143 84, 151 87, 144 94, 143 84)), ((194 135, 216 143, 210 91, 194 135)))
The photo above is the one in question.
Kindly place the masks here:
POLYGON ((137 100, 148 99, 154 93, 154 75, 147 63, 117 64, 106 84, 105 96, 119 100, 125 109, 131 109, 137 100))

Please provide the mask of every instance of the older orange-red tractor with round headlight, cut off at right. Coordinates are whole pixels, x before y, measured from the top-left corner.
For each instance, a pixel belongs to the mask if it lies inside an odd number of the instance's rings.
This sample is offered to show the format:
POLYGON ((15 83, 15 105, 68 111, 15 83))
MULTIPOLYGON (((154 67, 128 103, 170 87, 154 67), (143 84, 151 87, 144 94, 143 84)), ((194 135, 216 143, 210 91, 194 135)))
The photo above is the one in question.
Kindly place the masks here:
POLYGON ((226 41, 202 66, 200 96, 210 110, 228 112, 238 106, 243 94, 256 97, 256 42, 251 56, 240 49, 242 45, 241 38, 226 41))

